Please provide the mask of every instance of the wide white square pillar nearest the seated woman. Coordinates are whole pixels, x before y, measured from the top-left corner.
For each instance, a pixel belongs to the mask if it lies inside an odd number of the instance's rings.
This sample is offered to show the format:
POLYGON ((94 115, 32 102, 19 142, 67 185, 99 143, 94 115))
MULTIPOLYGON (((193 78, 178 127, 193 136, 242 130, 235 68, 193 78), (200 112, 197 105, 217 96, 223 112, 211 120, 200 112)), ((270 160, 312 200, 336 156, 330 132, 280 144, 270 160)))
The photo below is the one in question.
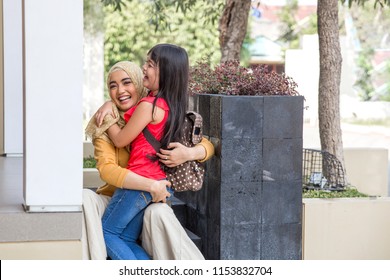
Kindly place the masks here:
POLYGON ((22 3, 25 207, 80 211, 83 1, 22 3))

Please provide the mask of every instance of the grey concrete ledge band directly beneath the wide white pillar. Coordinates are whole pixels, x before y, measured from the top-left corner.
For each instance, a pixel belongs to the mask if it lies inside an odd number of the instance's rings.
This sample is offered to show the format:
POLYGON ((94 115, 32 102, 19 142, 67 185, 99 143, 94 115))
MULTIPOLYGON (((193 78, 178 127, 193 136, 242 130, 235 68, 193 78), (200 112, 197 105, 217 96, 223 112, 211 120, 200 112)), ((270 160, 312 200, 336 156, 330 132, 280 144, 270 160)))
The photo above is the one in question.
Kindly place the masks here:
POLYGON ((0 221, 0 242, 81 239, 81 212, 0 213, 0 221))

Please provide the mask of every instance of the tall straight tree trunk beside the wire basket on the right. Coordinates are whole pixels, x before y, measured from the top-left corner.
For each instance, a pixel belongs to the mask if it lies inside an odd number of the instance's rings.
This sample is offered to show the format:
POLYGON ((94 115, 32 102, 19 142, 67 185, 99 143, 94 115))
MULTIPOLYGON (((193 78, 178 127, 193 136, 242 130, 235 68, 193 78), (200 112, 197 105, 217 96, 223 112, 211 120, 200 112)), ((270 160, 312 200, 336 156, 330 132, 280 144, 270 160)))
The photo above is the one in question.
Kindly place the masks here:
MULTIPOLYGON (((343 141, 340 127, 341 51, 338 23, 339 0, 318 0, 318 38, 320 77, 318 118, 321 149, 327 151, 344 167, 343 141)), ((323 172, 328 173, 326 166, 323 172)))

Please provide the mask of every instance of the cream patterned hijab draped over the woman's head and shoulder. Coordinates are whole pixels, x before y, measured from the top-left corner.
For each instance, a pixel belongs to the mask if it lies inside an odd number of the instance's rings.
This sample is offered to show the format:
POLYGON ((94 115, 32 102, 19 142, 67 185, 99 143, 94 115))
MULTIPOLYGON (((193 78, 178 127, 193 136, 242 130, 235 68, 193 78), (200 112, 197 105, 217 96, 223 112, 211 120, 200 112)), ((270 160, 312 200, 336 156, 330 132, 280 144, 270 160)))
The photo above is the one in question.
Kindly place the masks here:
MULTIPOLYGON (((135 88, 137 89, 137 93, 138 93, 137 102, 141 98, 147 95, 147 89, 143 86, 142 83, 142 77, 143 77, 142 70, 137 64, 131 61, 120 61, 111 67, 110 71, 108 71, 107 81, 106 81, 108 89, 110 88, 111 74, 118 70, 123 70, 127 73, 127 75, 129 75, 131 81, 133 82, 135 88)), ((123 119, 124 112, 120 112, 114 103, 112 103, 112 111, 114 112, 116 117, 114 118, 110 114, 106 115, 104 117, 103 124, 100 127, 96 126, 96 121, 95 121, 96 113, 90 119, 85 129, 85 135, 88 138, 90 138, 92 142, 95 141, 95 139, 99 138, 112 144, 106 130, 114 123, 117 123, 120 127, 123 127, 125 125, 125 120, 123 119)))

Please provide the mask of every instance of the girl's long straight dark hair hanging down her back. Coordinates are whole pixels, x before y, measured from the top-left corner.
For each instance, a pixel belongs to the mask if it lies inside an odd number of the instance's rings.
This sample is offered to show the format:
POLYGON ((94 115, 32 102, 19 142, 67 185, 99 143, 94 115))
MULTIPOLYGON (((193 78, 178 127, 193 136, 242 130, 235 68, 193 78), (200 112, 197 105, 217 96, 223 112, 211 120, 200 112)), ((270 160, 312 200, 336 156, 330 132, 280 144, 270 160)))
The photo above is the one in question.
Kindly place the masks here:
POLYGON ((164 98, 169 106, 169 116, 165 124, 161 146, 167 147, 170 142, 179 141, 188 100, 189 62, 185 49, 171 44, 158 44, 148 56, 159 68, 159 91, 154 106, 159 97, 164 98))

